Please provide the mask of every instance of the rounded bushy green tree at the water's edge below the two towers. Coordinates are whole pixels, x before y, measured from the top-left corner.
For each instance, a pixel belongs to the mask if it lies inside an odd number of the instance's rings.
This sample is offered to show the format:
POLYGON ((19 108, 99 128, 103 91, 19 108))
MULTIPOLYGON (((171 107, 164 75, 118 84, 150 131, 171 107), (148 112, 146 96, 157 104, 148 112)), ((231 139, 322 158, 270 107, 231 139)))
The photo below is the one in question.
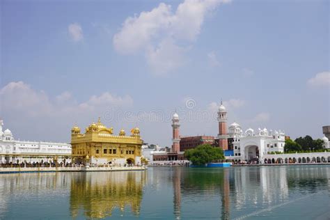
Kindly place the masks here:
POLYGON ((221 148, 212 147, 209 144, 203 144, 194 149, 186 150, 184 152, 184 157, 186 157, 194 165, 198 166, 225 158, 221 148))

